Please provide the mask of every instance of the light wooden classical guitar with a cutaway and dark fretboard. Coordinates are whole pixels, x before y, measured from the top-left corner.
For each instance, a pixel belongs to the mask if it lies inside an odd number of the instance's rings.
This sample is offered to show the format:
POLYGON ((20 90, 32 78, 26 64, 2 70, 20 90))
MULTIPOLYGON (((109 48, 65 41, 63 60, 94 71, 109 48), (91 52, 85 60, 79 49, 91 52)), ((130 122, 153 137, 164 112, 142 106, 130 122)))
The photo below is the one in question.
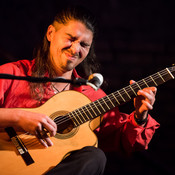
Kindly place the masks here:
POLYGON ((97 146, 97 138, 92 130, 98 127, 101 120, 99 116, 133 99, 139 89, 158 86, 174 79, 174 76, 175 66, 163 69, 94 102, 79 92, 64 91, 38 108, 22 108, 44 113, 56 122, 58 131, 56 136, 51 138, 54 145, 46 149, 34 136, 27 133, 8 135, 6 132, 0 132, 0 174, 41 175, 52 169, 71 151, 85 146, 97 146), (26 157, 21 156, 23 152, 29 154, 29 161, 32 159, 28 164, 24 161, 26 157))

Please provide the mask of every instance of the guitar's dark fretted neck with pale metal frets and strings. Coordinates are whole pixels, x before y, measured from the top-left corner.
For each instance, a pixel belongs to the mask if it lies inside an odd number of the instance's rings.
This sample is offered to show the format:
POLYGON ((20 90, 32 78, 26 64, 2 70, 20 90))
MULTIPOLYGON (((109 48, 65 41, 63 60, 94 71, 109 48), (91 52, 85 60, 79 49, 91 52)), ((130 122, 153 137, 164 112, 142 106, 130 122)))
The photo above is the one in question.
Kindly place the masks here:
POLYGON ((148 76, 134 84, 115 91, 99 100, 89 103, 79 109, 76 109, 67 114, 72 118, 75 126, 79 126, 87 121, 90 121, 116 106, 124 104, 137 96, 138 90, 146 87, 159 86, 174 79, 175 66, 163 69, 151 76, 148 76))

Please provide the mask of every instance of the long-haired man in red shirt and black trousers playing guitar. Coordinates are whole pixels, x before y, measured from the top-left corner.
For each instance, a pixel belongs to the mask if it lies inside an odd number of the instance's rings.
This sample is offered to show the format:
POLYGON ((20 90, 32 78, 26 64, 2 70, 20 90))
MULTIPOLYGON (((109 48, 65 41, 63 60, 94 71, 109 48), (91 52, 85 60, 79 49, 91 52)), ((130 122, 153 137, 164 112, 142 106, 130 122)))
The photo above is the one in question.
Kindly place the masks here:
MULTIPOLYGON (((75 79, 81 74, 87 78, 98 68, 94 53, 95 34, 95 20, 89 12, 80 8, 65 8, 48 26, 35 59, 7 63, 0 66, 0 73, 65 79, 75 79)), ((134 81, 131 80, 130 83, 134 81)), ((91 101, 106 95, 102 89, 95 91, 86 85, 75 87, 69 83, 29 83, 1 79, 1 130, 12 126, 16 131, 35 135, 43 146, 52 146, 50 137, 57 132, 55 122, 44 113, 18 108, 39 107, 55 94, 67 90, 79 91, 91 101), (43 128, 50 134, 42 135, 43 128)), ((103 152, 131 153, 148 149, 148 144, 159 127, 148 114, 153 109, 156 91, 156 87, 139 90, 134 99, 135 111, 130 115, 119 112, 117 107, 107 112, 100 127, 94 131, 98 136, 99 148, 87 146, 77 150, 47 174, 103 174, 106 163, 103 152)))

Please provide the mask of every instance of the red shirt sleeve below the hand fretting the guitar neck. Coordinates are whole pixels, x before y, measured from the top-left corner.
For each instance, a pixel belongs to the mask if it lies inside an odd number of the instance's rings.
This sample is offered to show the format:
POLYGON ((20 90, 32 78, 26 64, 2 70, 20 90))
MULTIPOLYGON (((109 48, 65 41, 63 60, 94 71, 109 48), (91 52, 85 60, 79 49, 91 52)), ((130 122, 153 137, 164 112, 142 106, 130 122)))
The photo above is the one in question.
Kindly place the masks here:
POLYGON ((99 147, 106 152, 131 153, 148 149, 159 124, 149 115, 145 127, 136 124, 134 114, 120 113, 118 108, 104 115, 101 126, 96 130, 99 147))

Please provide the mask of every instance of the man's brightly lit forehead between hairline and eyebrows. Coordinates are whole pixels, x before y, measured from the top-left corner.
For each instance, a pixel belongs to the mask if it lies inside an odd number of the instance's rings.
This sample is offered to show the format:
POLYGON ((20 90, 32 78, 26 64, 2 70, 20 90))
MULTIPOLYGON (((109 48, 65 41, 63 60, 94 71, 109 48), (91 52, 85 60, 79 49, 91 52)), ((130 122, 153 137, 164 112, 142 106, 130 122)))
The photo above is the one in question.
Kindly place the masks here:
POLYGON ((81 21, 70 20, 66 24, 56 22, 54 23, 54 26, 58 32, 63 34, 71 34, 74 37, 84 36, 93 38, 92 31, 81 21))

